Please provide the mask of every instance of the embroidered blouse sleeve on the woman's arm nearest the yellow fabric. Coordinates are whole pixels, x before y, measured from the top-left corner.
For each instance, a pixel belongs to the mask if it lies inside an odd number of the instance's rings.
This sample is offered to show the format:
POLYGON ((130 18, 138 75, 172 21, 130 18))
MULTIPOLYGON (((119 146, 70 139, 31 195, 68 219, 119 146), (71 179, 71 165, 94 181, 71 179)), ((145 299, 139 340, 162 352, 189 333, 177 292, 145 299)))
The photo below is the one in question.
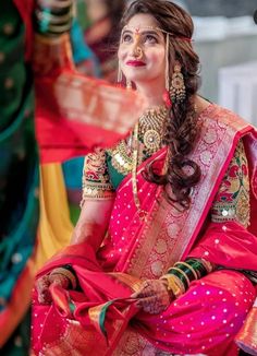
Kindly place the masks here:
POLYGON ((85 157, 82 185, 81 207, 88 199, 106 200, 113 198, 114 189, 110 182, 103 150, 97 149, 85 157))

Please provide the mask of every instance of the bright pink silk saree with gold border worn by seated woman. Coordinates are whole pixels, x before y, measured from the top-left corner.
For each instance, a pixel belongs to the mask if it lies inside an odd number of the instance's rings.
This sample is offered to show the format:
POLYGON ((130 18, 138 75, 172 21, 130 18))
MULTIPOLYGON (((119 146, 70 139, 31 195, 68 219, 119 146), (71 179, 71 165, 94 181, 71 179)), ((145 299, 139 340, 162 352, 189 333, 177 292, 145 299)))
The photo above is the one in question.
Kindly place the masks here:
MULTIPOLYGON (((86 244, 53 257, 38 276, 71 264, 81 289, 52 288, 53 304, 39 305, 34 292, 33 349, 36 355, 236 355, 235 334, 254 304, 256 290, 242 273, 257 270, 257 225, 210 223, 208 212, 240 139, 247 152, 252 180, 252 217, 257 209, 257 143, 254 128, 234 114, 210 105, 201 115, 201 137, 193 159, 203 178, 192 207, 169 205, 162 189, 137 171, 138 195, 148 212, 137 215, 131 176, 117 191, 108 236, 97 256, 86 244), (255 234, 255 235, 254 235, 255 234), (138 310, 130 296, 140 281, 158 278, 178 260, 192 256, 223 265, 191 284, 162 313, 138 310)), ((163 165, 166 150, 150 159, 163 165)), ((253 221, 253 219, 252 219, 253 221)))

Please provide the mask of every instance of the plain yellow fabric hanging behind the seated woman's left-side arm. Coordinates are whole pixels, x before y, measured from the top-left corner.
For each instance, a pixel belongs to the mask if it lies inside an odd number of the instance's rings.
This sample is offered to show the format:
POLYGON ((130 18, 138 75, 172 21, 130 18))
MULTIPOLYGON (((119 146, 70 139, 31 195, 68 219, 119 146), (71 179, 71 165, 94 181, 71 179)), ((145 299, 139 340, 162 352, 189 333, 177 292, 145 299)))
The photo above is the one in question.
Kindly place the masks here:
POLYGON ((40 219, 36 270, 70 244, 74 226, 70 219, 66 190, 60 164, 40 166, 40 219))

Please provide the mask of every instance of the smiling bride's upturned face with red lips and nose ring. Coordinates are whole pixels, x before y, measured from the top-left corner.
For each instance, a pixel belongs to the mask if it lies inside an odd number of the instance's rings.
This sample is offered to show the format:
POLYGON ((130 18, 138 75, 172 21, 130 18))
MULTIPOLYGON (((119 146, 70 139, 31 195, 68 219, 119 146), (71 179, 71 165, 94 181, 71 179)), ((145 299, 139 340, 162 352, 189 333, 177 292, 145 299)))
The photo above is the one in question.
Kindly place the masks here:
POLYGON ((136 14, 123 28, 118 51, 125 78, 136 83, 164 82, 166 39, 149 14, 136 14))

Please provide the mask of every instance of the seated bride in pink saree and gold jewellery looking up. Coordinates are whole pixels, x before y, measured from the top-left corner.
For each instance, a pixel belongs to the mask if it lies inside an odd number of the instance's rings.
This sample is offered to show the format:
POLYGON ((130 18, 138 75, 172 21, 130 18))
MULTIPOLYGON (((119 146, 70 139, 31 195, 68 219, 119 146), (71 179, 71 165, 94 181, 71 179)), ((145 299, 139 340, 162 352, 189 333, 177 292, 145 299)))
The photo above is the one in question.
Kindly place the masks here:
POLYGON ((123 16, 120 80, 149 108, 85 158, 71 246, 38 275, 36 354, 237 354, 256 295, 256 131, 197 95, 192 35, 170 1, 123 16))

